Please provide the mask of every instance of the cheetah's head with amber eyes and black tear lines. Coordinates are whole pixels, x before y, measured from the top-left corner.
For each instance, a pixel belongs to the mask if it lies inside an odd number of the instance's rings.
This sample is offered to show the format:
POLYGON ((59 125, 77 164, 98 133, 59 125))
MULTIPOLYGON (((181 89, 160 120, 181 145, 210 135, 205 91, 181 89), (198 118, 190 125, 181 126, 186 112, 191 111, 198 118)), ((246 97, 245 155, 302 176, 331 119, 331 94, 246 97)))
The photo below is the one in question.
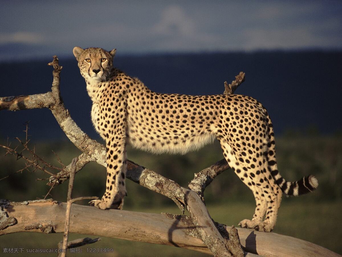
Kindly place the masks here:
POLYGON ((102 48, 82 49, 74 47, 73 53, 78 60, 81 75, 89 83, 106 81, 113 66, 116 49, 107 52, 102 48))

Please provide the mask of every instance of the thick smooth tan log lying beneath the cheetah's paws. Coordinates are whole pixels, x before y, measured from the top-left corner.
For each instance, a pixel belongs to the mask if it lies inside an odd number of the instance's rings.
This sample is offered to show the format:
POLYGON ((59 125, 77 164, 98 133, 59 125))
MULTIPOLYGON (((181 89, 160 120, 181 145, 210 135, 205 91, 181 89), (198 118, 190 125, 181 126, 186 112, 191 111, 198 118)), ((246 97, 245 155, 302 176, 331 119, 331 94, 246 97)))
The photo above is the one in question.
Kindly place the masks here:
MULTIPOLYGON (((36 224, 50 224, 49 226, 52 228, 50 232, 64 232, 66 203, 55 201, 30 204, 10 202, 4 211, 15 218, 17 223, 0 230, 0 235, 15 232, 44 232, 36 224)), ((188 216, 114 209, 103 211, 91 206, 73 204, 70 217, 72 219, 70 233, 171 245, 212 254, 202 240, 195 236, 197 230, 188 216)), ((229 234, 230 227, 219 225, 229 234)), ((278 257, 340 256, 324 247, 290 236, 259 232, 253 229, 237 228, 237 230, 241 244, 248 253, 278 257)), ((247 254, 247 256, 253 255, 247 254)))

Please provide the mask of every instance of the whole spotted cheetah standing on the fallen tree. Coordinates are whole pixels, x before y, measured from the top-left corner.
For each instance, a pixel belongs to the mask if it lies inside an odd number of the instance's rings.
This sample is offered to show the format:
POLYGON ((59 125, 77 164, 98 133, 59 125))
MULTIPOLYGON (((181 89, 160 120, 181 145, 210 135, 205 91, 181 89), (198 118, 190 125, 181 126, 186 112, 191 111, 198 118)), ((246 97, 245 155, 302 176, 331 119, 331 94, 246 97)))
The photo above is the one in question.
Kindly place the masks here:
POLYGON ((92 123, 106 141, 106 191, 91 205, 122 209, 127 144, 152 153, 185 154, 218 139, 229 166, 254 194, 255 213, 239 223, 244 228, 272 231, 282 193, 301 195, 317 188, 312 175, 288 182, 279 174, 272 122, 252 97, 155 93, 113 67, 116 49, 76 46, 73 53, 93 102, 92 123))

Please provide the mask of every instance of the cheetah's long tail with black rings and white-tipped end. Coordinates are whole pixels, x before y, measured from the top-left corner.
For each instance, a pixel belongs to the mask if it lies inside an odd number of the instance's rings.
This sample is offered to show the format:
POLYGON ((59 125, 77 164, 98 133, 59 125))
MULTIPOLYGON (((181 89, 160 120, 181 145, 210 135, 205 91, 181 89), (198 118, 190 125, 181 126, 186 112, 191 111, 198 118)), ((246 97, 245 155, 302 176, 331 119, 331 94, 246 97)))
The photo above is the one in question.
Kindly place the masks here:
MULTIPOLYGON (((274 141, 274 132, 273 132, 273 125, 271 120, 268 117, 268 138, 269 142, 267 144, 267 150, 265 152, 266 159, 268 161, 268 170, 271 172, 273 179, 275 180, 276 184, 281 188, 281 191, 284 192, 286 195, 302 195, 306 193, 310 193, 314 191, 318 187, 318 180, 313 176, 309 175, 303 177, 302 179, 289 182, 286 181, 279 173, 277 168, 277 161, 275 158, 275 141, 274 141)), ((270 178, 271 179, 271 178, 270 178)))

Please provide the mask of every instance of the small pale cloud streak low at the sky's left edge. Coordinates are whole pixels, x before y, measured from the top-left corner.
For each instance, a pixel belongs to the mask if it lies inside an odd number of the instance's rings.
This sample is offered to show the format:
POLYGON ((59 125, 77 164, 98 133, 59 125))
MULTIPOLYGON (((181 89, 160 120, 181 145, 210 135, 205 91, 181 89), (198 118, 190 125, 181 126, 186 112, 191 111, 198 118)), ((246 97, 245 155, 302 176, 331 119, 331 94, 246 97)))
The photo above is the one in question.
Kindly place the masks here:
POLYGON ((40 44, 44 42, 44 36, 35 32, 14 32, 1 33, 0 44, 8 43, 26 43, 26 44, 40 44))

